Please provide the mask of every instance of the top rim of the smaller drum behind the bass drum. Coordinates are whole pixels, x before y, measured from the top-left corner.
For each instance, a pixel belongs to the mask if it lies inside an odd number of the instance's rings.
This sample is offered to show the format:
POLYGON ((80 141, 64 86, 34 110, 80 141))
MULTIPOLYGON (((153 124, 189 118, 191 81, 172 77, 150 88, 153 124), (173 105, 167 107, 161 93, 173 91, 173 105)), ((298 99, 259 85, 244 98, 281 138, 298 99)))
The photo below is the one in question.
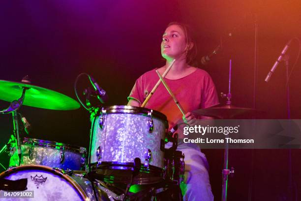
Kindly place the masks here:
POLYGON ((78 152, 81 154, 87 153, 87 149, 84 147, 80 147, 80 146, 64 144, 64 143, 60 143, 60 142, 56 142, 56 141, 28 138, 28 137, 24 137, 24 139, 23 139, 23 144, 30 145, 32 142, 34 143, 34 145, 38 145, 41 147, 51 147, 51 148, 60 149, 60 150, 61 150, 61 148, 58 148, 58 147, 63 147, 64 149, 78 152))

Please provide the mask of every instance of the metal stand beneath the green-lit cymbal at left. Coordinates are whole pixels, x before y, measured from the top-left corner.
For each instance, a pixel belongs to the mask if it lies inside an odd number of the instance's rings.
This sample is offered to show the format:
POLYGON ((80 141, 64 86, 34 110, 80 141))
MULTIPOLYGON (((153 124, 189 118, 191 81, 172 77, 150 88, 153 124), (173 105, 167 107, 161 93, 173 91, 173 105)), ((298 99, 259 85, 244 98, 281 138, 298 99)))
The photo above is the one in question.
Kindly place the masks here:
POLYGON ((22 151, 21 151, 21 142, 20 142, 20 135, 19 135, 19 124, 18 124, 17 110, 20 109, 22 104, 23 104, 23 101, 25 99, 25 92, 26 92, 27 89, 29 89, 29 88, 23 87, 22 96, 18 100, 11 101, 8 108, 0 111, 0 114, 9 114, 9 113, 12 114, 13 125, 14 125, 14 135, 15 135, 15 140, 16 140, 17 150, 18 150, 18 156, 19 156, 19 165, 21 163, 22 151))

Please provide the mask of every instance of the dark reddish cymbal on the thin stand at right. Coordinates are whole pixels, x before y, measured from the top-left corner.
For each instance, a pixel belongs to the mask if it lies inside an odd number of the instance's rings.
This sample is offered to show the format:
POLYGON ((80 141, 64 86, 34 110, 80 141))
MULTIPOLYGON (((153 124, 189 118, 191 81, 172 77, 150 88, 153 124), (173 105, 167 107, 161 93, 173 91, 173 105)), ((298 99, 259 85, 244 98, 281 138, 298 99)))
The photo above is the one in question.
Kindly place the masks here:
POLYGON ((242 114, 256 114, 256 112, 260 111, 253 108, 237 107, 234 105, 223 105, 192 111, 192 113, 197 115, 217 117, 219 119, 233 118, 242 114))

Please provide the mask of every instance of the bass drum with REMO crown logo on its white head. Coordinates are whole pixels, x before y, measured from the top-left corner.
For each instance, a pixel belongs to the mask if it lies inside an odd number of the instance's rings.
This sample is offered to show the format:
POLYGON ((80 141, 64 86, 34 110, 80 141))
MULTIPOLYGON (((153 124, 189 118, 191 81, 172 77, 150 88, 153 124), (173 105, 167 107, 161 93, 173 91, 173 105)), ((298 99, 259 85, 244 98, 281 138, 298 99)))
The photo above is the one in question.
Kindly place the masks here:
POLYGON ((27 190, 33 198, 5 198, 5 201, 95 201, 91 182, 81 174, 71 176, 45 166, 13 167, 0 178, 18 180, 27 178, 27 190))

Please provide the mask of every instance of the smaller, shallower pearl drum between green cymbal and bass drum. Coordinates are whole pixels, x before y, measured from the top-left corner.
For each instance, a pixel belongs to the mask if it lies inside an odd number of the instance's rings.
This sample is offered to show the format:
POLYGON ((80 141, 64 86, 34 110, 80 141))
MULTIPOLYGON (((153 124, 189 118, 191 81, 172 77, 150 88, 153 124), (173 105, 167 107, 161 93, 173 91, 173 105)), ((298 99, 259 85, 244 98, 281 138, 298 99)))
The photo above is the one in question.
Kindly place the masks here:
MULTIPOLYGON (((61 169, 81 170, 85 166, 87 150, 84 147, 42 139, 24 138, 21 143, 21 165, 41 165, 61 169)), ((18 155, 10 158, 10 167, 18 166, 18 155)))

